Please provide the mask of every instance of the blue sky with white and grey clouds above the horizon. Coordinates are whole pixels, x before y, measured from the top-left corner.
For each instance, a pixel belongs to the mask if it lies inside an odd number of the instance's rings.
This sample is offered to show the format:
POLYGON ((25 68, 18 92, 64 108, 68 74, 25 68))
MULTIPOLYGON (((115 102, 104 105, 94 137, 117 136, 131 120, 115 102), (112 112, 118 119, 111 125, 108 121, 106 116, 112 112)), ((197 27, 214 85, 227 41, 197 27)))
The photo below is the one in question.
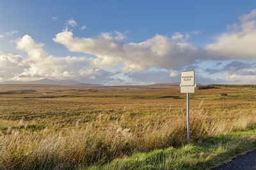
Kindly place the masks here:
POLYGON ((256 1, 1 1, 0 82, 256 83, 256 1))

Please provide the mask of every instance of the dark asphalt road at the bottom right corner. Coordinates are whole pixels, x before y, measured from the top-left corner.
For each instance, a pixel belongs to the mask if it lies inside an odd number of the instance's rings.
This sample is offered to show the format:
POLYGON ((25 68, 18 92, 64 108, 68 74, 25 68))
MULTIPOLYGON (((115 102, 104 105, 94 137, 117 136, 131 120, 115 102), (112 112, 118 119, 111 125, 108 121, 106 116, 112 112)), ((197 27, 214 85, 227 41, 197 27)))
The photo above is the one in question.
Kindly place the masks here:
POLYGON ((244 155, 239 155, 230 160, 230 162, 212 168, 212 170, 223 169, 256 169, 256 150, 247 152, 244 155))

